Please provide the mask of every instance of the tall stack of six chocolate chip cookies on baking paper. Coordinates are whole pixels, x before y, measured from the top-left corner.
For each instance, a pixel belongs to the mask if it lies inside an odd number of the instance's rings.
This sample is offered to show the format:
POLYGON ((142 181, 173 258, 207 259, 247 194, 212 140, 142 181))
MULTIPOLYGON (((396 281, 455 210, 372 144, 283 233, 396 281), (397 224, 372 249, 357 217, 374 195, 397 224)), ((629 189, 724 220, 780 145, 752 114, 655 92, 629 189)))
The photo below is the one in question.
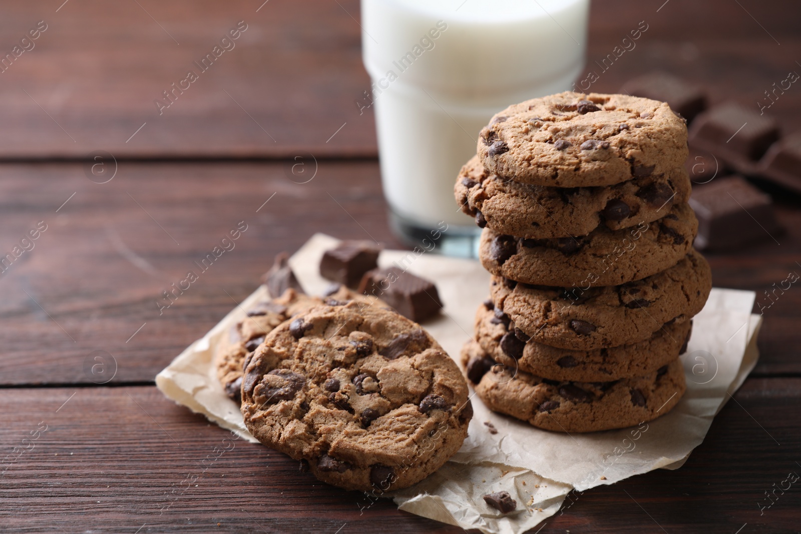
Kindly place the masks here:
POLYGON ((535 98, 481 130, 455 194, 493 275, 462 355, 489 408, 591 432, 678 403, 711 289, 686 139, 666 103, 622 94, 535 98))

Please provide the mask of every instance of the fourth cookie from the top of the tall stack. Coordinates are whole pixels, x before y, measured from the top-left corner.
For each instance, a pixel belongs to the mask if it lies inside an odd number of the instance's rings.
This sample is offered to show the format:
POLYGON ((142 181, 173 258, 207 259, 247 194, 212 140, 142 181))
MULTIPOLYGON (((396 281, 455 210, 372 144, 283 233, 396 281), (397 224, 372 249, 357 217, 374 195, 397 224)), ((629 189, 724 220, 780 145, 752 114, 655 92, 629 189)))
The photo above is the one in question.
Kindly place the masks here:
POLYGON ((709 263, 690 251, 676 265, 620 286, 531 286, 493 276, 495 307, 539 343, 586 351, 638 343, 670 319, 701 311, 712 288, 709 263))

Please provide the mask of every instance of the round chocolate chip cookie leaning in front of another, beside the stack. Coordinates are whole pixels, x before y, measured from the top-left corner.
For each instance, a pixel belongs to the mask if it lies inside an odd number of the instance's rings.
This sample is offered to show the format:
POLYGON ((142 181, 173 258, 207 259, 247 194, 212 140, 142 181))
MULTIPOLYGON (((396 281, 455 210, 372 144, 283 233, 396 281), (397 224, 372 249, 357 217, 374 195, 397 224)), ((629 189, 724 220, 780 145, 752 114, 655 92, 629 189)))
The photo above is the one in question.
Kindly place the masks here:
POLYGON ((245 370, 261 443, 346 489, 406 488, 461 447, 473 409, 457 364, 417 323, 350 302, 268 334, 245 370))

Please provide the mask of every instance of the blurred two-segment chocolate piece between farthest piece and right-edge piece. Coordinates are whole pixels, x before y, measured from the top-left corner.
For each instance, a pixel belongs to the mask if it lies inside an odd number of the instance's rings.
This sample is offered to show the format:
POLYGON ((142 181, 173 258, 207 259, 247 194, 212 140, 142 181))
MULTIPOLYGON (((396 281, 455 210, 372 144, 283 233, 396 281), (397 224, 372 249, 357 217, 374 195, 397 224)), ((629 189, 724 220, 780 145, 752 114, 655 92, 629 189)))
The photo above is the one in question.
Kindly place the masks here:
POLYGON ((779 139, 779 125, 767 115, 730 102, 698 115, 688 135, 691 146, 723 157, 737 171, 748 173, 779 139))

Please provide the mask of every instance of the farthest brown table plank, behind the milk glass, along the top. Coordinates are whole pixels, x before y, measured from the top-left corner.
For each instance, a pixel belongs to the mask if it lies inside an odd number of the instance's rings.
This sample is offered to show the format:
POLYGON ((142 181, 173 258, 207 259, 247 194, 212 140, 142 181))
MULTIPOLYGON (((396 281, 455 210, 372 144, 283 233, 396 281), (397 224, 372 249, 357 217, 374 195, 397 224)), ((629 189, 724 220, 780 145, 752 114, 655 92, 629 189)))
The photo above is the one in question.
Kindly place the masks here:
MULTIPOLYGON (((739 3, 670 0, 658 10, 662 2, 594 2, 588 70, 639 21, 649 29, 593 90, 617 91, 659 68, 709 86, 714 101, 755 106, 772 82, 798 68, 799 36, 787 16, 796 6, 739 3)), ((2 54, 36 22, 47 30, 0 74, 0 159, 80 158, 95 150, 118 158, 376 155, 372 110, 355 105, 369 89, 357 0, 61 4, 4 7, 2 54), (239 21, 248 30, 235 48, 159 114, 154 100, 196 70, 193 62, 239 21)), ((787 91, 771 114, 797 129, 799 103, 801 91, 787 91)))

